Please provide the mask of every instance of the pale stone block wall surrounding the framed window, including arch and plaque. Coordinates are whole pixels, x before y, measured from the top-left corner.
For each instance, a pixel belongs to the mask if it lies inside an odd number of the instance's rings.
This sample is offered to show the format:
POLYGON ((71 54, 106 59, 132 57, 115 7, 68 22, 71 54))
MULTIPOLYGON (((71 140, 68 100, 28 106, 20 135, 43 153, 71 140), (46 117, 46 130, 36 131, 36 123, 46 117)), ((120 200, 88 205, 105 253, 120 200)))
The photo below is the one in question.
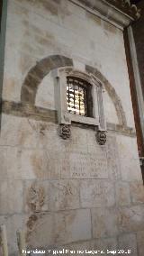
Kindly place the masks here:
POLYGON ((12 255, 20 228, 31 248, 143 255, 144 191, 119 29, 71 1, 9 1, 1 125, 0 224, 12 255), (91 127, 72 125, 67 141, 58 135, 52 69, 71 65, 103 82, 104 146, 91 127))

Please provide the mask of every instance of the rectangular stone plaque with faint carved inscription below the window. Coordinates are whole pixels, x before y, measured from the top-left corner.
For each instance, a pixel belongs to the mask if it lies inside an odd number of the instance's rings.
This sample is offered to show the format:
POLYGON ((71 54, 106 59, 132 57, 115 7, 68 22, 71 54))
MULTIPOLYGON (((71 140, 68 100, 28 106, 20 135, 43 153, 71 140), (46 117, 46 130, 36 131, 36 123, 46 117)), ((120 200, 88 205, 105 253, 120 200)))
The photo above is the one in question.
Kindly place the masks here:
POLYGON ((108 178, 104 153, 70 152, 62 160, 61 178, 108 178))

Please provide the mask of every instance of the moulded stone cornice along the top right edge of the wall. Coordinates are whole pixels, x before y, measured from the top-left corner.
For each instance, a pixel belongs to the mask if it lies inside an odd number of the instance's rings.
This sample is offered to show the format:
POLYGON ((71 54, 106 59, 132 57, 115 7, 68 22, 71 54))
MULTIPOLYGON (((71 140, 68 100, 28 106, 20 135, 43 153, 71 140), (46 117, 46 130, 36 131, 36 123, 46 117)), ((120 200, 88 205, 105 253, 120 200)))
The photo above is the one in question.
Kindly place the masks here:
POLYGON ((93 12, 123 30, 139 19, 140 11, 130 0, 72 0, 76 5, 93 12))

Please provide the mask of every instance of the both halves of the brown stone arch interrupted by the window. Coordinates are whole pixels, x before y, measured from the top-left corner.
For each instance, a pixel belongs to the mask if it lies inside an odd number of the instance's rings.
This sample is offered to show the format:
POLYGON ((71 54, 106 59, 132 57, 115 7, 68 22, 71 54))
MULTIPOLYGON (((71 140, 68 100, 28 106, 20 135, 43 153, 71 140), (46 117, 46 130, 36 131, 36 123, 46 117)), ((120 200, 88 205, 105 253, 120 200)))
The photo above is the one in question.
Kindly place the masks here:
MULTIPOLYGON (((73 60, 62 55, 51 55, 37 62, 37 64, 30 69, 26 78, 24 79, 21 91, 21 102, 35 105, 35 98, 41 80, 49 74, 49 71, 52 69, 58 69, 60 67, 73 67, 73 60)), ((126 127, 127 122, 123 107, 121 105, 121 99, 117 95, 115 89, 112 87, 109 81, 103 77, 102 73, 98 69, 85 65, 85 71, 93 74, 94 77, 103 82, 103 85, 111 97, 112 103, 116 109, 119 124, 126 127)))

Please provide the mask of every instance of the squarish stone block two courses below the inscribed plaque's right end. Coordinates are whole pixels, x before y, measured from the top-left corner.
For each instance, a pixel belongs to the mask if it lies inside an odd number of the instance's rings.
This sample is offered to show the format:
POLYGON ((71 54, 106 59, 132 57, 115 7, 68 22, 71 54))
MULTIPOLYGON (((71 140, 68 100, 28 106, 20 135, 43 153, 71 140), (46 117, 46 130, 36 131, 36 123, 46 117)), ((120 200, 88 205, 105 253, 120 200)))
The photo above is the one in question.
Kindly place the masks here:
POLYGON ((92 209, 94 238, 110 237, 118 234, 117 212, 112 208, 92 209))

